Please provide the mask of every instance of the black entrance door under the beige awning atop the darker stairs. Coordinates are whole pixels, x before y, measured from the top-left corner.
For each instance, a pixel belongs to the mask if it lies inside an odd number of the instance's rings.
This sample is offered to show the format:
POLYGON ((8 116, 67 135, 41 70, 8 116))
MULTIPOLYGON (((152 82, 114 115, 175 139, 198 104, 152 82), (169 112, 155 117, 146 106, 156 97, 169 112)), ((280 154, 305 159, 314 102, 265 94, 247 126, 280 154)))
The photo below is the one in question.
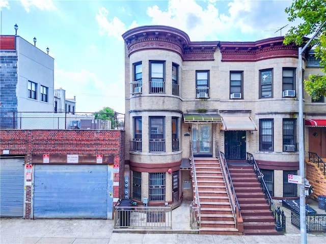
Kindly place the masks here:
POLYGON ((246 159, 246 131, 225 131, 225 157, 231 160, 246 159))

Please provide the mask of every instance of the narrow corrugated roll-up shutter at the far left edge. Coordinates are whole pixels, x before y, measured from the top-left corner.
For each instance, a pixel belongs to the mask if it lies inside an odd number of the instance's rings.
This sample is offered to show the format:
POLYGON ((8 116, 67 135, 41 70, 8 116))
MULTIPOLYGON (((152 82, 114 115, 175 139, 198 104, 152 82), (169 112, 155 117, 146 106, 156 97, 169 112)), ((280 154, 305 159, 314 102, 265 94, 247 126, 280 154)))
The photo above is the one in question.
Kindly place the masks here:
POLYGON ((0 159, 0 217, 23 217, 24 158, 0 159))

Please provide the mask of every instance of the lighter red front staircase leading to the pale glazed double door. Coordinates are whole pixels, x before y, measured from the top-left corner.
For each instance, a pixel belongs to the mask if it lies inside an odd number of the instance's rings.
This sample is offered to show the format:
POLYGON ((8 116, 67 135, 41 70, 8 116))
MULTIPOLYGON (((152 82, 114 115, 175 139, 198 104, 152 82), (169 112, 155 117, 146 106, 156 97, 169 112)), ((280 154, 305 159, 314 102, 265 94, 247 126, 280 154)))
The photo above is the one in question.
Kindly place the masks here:
MULTIPOLYGON (((195 158, 201 205, 200 234, 238 235, 219 161, 195 158)), ((193 180, 194 183, 194 180, 193 180)))

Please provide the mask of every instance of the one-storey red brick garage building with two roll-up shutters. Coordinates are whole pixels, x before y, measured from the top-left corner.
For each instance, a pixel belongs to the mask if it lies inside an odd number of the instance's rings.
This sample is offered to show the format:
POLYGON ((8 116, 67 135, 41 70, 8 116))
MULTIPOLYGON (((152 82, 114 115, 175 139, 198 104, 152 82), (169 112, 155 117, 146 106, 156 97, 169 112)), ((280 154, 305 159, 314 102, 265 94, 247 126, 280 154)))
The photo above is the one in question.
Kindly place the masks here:
MULTIPOLYGON (((101 167, 104 172, 103 182, 94 184, 94 189, 83 190, 85 196, 83 199, 90 198, 92 195, 87 196, 87 193, 92 194, 92 191, 96 191, 95 188, 102 187, 100 193, 100 199, 104 201, 103 212, 99 215, 89 214, 94 209, 100 206, 96 206, 96 202, 92 202, 95 206, 87 214, 84 214, 84 218, 108 218, 112 219, 113 216, 113 204, 118 201, 119 196, 123 195, 123 188, 119 186, 123 185, 124 175, 124 132, 118 130, 2 130, 1 131, 1 167, 2 167, 2 212, 1 216, 19 216, 25 219, 31 218, 51 218, 48 208, 55 208, 47 202, 48 205, 42 205, 41 200, 36 200, 37 195, 40 195, 41 185, 47 187, 46 198, 53 198, 53 201, 57 201, 60 204, 68 204, 66 199, 58 199, 56 195, 59 192, 64 192, 65 188, 73 186, 76 182, 72 182, 72 178, 75 176, 74 171, 80 171, 80 176, 85 172, 89 173, 89 181, 83 181, 83 178, 77 178, 77 185, 91 185, 91 182, 95 175, 92 175, 92 170, 95 171, 101 167), (16 161, 16 159, 19 159, 16 161), (23 165, 23 166, 21 166, 23 165), (53 168, 51 168, 53 166, 53 168), (87 167, 84 169, 84 166, 87 167), (22 171, 19 168, 23 167, 22 171), (67 167, 67 169, 65 168, 67 167), (65 169, 64 169, 65 168, 65 169), (78 169, 80 168, 80 169, 78 169), (41 170, 45 170, 44 172, 41 170), (72 170, 72 171, 71 171, 72 170), (70 172, 71 171, 71 172, 70 172), (10 177, 10 172, 18 172, 18 178, 22 179, 22 182, 17 182, 10 177), (43 172, 43 173, 41 173, 43 172), (56 173, 57 172, 57 175, 56 173), (22 175, 21 175, 22 173, 22 175), (9 175, 8 175, 9 174, 9 175), (59 178, 58 175, 60 176, 59 178), (66 176, 65 176, 66 175, 66 176), (106 176, 107 175, 107 176, 106 176), (42 177, 46 178, 42 182, 42 177), (34 177, 39 177, 37 180, 34 177), (71 182, 69 182, 71 177, 71 182), (60 179, 60 180, 59 180, 60 179), (62 185, 61 180, 65 180, 65 184, 62 185), (6 182, 7 181, 7 182, 6 182), (10 186, 8 182, 11 182, 10 186), (33 182, 33 184, 32 184, 33 182), (15 205, 13 203, 15 199, 11 199, 15 193, 18 184, 23 184, 23 188, 17 190, 15 198, 18 198, 18 205, 16 209, 11 209, 10 206, 15 205), (55 186, 59 186, 59 189, 53 190, 55 186), (9 189, 8 189, 9 187, 9 189), (38 188, 39 187, 39 188, 38 188), (12 188, 12 189, 10 189, 12 188), (24 189, 23 192, 22 189, 24 189), (51 190, 52 189, 52 190, 51 190), (20 191, 21 190, 21 191, 20 191), (89 190, 89 192, 87 192, 89 190), (39 192, 39 193, 38 193, 39 192), (51 195, 52 194, 52 195, 51 195), (104 195, 105 194, 105 195, 104 195), (23 197, 23 199, 21 199, 23 197), (39 202, 37 202, 39 201, 39 202)), ((88 177, 86 175, 86 177, 88 177)), ((80 187, 82 188, 82 187, 80 187)), ((79 186, 78 186, 79 189, 79 186)), ((68 190, 67 190, 68 192, 68 190)), ((73 192, 68 198, 73 199, 73 192)), ((68 192, 69 193, 69 192, 68 192)), ((76 193, 77 194, 77 193, 76 193)), ((78 199, 74 199, 78 200, 78 199)), ((42 201, 45 201, 44 199, 42 201)), ((94 200, 96 201, 96 199, 94 200)), ((45 201, 46 202, 46 201, 45 201)), ((83 203, 81 208, 87 208, 87 204, 83 203)), ((100 203, 98 203, 100 205, 100 203)), ((80 207, 80 206, 78 206, 80 207)), ((63 208, 64 209, 64 208, 63 208)), ((64 211, 60 209, 61 211, 64 211)), ((77 209, 77 207, 76 207, 77 209)), ((58 210, 58 209, 57 209, 58 210)), ((74 211, 74 210, 73 210, 74 211)), ((78 213, 67 212, 60 216, 54 214, 54 217, 63 218, 83 218, 83 211, 77 209, 78 213), (69 215, 71 215, 69 217, 69 215)), ((85 210, 86 211, 86 210, 85 210)), ((59 212, 59 210, 58 210, 59 212)), ((53 213, 52 213, 53 214, 53 213)))

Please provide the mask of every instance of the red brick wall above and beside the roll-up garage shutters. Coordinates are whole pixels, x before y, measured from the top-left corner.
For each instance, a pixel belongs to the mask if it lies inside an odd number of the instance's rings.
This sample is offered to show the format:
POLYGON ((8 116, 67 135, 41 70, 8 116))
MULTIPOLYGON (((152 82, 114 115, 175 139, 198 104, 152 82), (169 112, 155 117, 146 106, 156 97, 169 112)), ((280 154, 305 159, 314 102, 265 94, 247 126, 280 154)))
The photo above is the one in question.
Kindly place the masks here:
MULTIPOLYGON (((94 159, 98 154, 103 155, 103 158, 110 159, 113 156, 112 161, 106 161, 105 163, 118 165, 119 167, 119 172, 114 173, 113 176, 114 182, 116 182, 113 190, 114 199, 117 199, 123 193, 124 131, 1 130, 0 150, 1 152, 9 150, 10 155, 26 155, 26 164, 32 164, 32 156, 38 159, 37 156, 43 154, 49 154, 50 159, 53 157, 60 159, 60 156, 69 154, 93 155, 94 159)), ((89 159, 86 158, 86 160, 89 159)), ((24 218, 31 219, 32 187, 26 186, 25 189, 24 218)))

